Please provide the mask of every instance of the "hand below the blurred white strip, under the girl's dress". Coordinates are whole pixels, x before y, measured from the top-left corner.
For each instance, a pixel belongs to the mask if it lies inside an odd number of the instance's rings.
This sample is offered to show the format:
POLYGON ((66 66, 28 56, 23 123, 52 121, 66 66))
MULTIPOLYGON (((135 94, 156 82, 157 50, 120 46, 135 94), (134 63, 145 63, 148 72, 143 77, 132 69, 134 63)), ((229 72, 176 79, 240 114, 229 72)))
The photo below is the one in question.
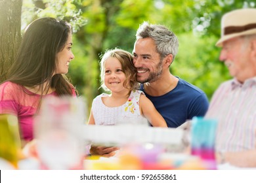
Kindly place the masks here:
POLYGON ((116 154, 116 150, 119 150, 119 147, 106 147, 106 146, 94 146, 91 145, 90 153, 91 155, 98 155, 104 157, 111 157, 116 154))

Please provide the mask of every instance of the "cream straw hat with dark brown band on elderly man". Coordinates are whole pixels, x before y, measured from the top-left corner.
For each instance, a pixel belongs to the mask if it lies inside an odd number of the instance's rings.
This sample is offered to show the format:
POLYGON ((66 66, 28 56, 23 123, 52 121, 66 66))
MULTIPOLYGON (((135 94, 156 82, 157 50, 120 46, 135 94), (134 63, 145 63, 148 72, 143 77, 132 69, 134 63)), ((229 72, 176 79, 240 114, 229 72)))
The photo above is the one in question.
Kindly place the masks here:
POLYGON ((228 39, 251 34, 256 34, 256 8, 233 10, 221 19, 221 39, 216 46, 223 46, 228 39))

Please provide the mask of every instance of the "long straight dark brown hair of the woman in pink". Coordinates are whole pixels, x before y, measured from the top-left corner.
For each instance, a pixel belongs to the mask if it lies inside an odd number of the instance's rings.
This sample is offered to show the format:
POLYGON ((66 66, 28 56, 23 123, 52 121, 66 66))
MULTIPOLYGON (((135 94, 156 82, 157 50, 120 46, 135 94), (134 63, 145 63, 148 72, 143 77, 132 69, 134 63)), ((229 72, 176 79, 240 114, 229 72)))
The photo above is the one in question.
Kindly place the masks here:
POLYGON ((53 76, 57 53, 63 50, 70 33, 70 25, 55 18, 33 21, 26 28, 7 80, 29 88, 39 86, 41 93, 51 87, 58 95, 72 95, 74 86, 68 78, 61 74, 53 76), (49 85, 43 88, 45 82, 49 85))

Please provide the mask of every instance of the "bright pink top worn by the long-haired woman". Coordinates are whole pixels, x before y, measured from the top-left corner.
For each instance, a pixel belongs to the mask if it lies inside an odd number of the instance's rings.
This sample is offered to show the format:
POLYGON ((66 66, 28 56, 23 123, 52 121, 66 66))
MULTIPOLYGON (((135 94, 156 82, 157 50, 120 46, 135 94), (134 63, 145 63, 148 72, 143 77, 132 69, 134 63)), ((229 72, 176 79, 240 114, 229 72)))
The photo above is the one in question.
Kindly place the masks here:
MULTIPOLYGON (((43 95, 58 96, 56 92, 43 95)), ((75 95, 75 90, 73 90, 75 95)), ((24 86, 12 82, 4 82, 0 85, 0 114, 12 114, 18 117, 20 138, 26 141, 33 139, 33 116, 37 111, 41 95, 27 90, 24 86)))

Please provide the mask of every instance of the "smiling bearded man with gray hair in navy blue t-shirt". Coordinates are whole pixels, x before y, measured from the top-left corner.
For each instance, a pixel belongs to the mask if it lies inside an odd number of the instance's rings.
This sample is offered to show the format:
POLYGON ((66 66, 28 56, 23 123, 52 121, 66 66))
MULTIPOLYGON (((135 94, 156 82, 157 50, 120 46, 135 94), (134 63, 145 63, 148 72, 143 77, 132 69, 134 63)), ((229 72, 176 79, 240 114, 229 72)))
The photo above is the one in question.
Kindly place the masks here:
POLYGON ((175 34, 163 25, 144 22, 136 38, 133 63, 140 90, 152 101, 168 127, 179 127, 194 116, 204 116, 209 105, 205 93, 170 72, 179 47, 175 34))

